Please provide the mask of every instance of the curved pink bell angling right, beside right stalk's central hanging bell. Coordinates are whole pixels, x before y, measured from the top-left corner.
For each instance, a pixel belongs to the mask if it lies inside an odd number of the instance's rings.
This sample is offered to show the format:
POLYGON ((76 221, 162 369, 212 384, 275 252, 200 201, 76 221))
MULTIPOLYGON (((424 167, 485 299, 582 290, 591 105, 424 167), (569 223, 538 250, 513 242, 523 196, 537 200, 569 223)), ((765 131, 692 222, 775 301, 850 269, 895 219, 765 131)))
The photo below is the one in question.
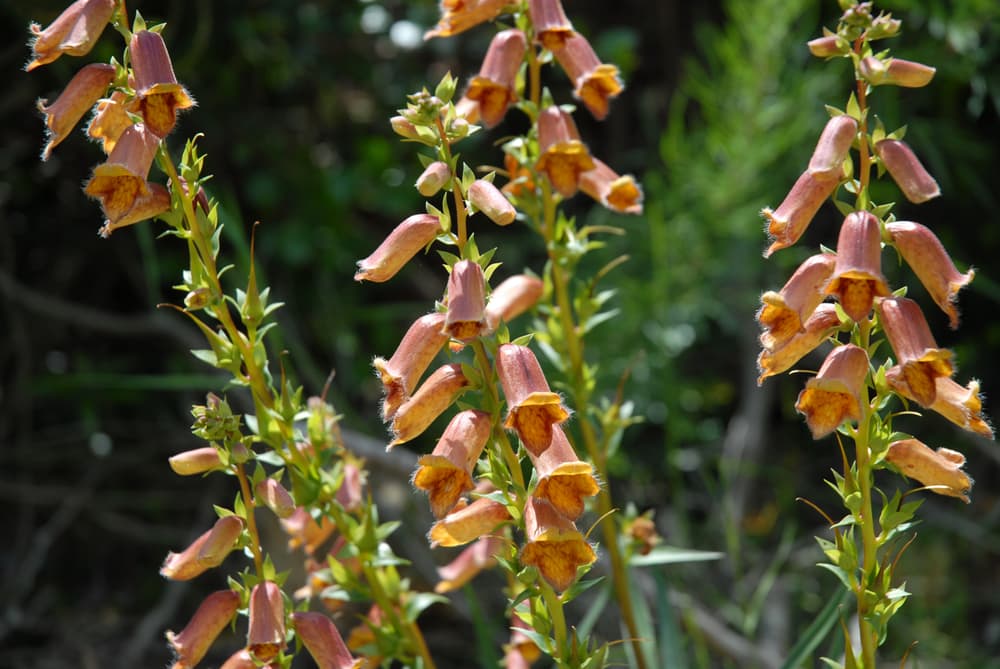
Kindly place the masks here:
POLYGON ((941 240, 926 226, 909 221, 888 223, 885 229, 892 243, 924 284, 934 302, 948 314, 952 329, 958 327, 958 309, 955 300, 958 291, 969 284, 976 272, 970 269, 962 274, 955 267, 941 240))

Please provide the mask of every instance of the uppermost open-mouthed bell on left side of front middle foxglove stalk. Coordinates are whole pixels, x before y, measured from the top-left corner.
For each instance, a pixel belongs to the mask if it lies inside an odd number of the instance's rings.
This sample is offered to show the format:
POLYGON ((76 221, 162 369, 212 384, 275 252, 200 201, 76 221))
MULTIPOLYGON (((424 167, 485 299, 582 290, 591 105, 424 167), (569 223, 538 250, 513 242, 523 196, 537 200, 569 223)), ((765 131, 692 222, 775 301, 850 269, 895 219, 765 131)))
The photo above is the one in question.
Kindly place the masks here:
POLYGON ((441 313, 421 316, 403 335, 388 361, 375 358, 372 362, 385 390, 383 421, 391 420, 399 406, 410 399, 410 391, 448 341, 448 334, 443 331, 444 322, 445 315, 441 313))

